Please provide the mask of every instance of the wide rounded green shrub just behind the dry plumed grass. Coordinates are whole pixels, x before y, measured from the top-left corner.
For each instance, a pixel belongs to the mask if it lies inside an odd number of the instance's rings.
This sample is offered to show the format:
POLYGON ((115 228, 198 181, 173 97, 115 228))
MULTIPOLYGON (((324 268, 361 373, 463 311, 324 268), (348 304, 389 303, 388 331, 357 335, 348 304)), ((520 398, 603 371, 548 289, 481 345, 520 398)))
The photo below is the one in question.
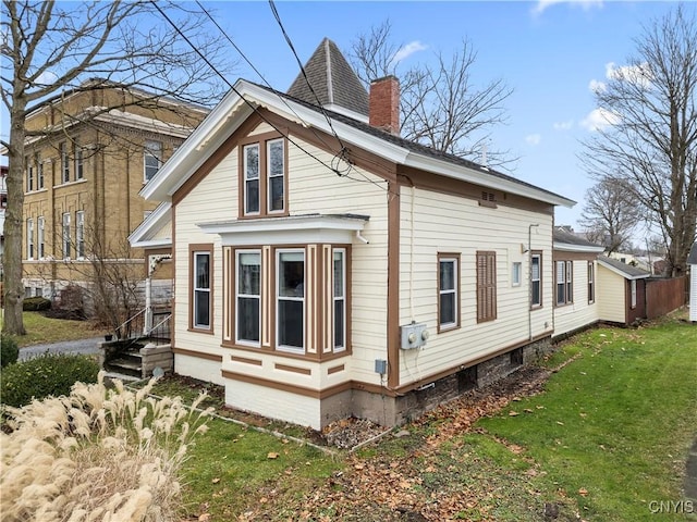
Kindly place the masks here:
POLYGON ((96 383, 99 364, 78 355, 49 355, 10 364, 0 372, 0 401, 21 407, 32 399, 70 394, 76 383, 96 383))

